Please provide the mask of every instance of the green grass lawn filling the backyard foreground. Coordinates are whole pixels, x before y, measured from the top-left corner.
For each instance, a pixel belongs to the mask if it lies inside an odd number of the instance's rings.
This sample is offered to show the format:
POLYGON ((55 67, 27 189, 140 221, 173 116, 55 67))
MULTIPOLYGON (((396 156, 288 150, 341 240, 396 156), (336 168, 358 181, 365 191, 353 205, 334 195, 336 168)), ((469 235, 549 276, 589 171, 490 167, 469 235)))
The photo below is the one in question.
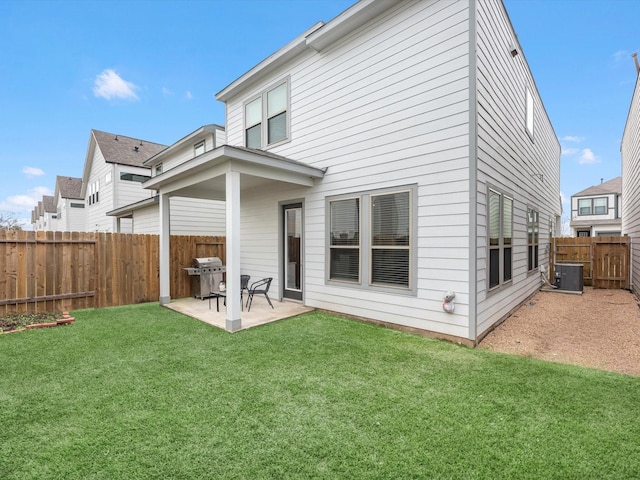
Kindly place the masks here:
POLYGON ((325 313, 0 336, 2 479, 640 478, 640 378, 325 313))

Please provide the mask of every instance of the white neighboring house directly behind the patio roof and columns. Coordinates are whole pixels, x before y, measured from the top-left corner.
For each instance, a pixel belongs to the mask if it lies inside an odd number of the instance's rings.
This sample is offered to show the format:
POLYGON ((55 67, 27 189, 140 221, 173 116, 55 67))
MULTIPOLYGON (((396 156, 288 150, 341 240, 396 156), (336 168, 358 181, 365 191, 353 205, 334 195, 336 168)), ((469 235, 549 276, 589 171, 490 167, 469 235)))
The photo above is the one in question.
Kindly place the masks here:
MULTIPOLYGON (((224 141, 224 127, 205 125, 152 156, 144 165, 155 177, 223 145, 224 141)), ((129 220, 133 233, 158 234, 160 231, 157 196, 125 205, 107 215, 116 217, 120 224, 129 220)), ((170 224, 172 235, 224 235, 225 204, 220 200, 172 197, 170 224)))

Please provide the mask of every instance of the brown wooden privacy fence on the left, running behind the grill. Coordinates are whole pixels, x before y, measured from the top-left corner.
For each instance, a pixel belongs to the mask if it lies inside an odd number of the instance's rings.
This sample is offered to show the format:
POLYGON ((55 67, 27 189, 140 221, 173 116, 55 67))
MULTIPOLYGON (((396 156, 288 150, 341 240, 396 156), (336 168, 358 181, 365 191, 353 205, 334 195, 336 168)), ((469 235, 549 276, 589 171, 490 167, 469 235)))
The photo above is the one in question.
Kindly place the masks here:
MULTIPOLYGON (((191 295, 196 257, 225 262, 225 237, 172 235, 172 298, 191 295)), ((0 314, 157 301, 158 235, 0 231, 0 314)))

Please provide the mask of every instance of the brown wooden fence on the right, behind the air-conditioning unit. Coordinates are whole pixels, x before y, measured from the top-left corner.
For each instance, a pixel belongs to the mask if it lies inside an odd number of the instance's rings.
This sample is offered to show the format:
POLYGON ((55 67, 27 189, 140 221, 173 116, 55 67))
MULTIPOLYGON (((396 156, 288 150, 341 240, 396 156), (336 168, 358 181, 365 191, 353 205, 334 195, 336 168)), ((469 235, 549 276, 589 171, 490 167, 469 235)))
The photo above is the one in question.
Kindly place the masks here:
POLYGON ((549 281, 554 265, 583 265, 584 284, 594 288, 629 288, 631 239, 629 237, 554 238, 549 256, 549 281))

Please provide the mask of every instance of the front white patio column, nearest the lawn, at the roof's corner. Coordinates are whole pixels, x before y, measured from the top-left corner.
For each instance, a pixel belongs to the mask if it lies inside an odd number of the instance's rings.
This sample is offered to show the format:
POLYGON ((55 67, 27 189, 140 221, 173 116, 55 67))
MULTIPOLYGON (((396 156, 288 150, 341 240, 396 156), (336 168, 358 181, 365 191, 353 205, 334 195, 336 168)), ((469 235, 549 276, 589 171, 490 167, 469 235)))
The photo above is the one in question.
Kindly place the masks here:
POLYGON ((242 328, 240 320, 240 173, 227 172, 227 321, 226 329, 242 328))

